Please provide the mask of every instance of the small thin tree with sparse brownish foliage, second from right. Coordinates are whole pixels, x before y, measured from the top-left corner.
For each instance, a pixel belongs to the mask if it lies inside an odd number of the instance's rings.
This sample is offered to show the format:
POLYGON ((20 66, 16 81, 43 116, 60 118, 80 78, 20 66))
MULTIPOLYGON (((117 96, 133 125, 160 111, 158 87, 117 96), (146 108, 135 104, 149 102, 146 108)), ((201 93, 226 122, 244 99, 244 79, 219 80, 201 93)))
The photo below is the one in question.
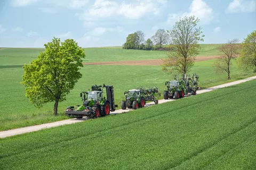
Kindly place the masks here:
POLYGON ((217 73, 227 72, 228 80, 230 80, 230 65, 233 60, 239 54, 240 45, 237 43, 238 39, 229 40, 227 44, 219 47, 222 55, 213 64, 217 73))

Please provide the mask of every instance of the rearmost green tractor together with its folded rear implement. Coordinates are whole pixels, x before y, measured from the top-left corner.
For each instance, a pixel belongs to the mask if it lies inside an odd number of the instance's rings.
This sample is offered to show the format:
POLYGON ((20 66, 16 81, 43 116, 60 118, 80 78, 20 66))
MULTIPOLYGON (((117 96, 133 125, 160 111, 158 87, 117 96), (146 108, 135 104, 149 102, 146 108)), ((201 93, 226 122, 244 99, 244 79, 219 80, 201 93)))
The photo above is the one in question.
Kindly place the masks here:
POLYGON ((200 89, 197 86, 199 77, 196 74, 193 74, 192 78, 189 78, 187 74, 183 74, 181 79, 179 79, 179 75, 175 75, 174 79, 173 81, 165 82, 167 90, 164 91, 164 99, 179 99, 183 98, 185 95, 196 95, 196 91, 200 89))

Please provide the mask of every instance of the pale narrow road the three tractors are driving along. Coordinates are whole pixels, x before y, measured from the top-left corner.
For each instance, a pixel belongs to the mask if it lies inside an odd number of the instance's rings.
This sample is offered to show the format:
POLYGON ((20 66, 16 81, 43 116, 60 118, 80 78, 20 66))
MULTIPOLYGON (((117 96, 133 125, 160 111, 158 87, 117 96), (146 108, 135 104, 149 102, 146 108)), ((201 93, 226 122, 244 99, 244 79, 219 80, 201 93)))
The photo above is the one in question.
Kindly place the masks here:
MULTIPOLYGON (((255 79, 256 79, 256 76, 253 76, 253 77, 250 77, 250 78, 221 84, 221 85, 218 85, 218 86, 198 90, 197 94, 203 94, 205 92, 209 92, 209 91, 212 91, 212 90, 217 90, 217 89, 221 89, 221 88, 225 88, 225 87, 229 87, 229 86, 234 86, 236 84, 240 84, 240 83, 255 80, 255 79)), ((158 100, 158 104, 162 104, 162 103, 166 103, 166 102, 170 102, 170 101, 175 101, 175 100, 174 99, 169 99, 169 100, 162 99, 162 100, 158 100)), ((150 102, 150 103, 147 103, 145 105, 145 107, 149 107, 149 106, 153 106, 153 105, 155 105, 155 103, 150 102)), ((125 109, 125 110, 119 109, 119 110, 117 110, 117 111, 115 111, 114 113, 111 113, 111 114, 115 115, 115 114, 127 113, 127 112, 130 112, 130 111, 133 111, 133 110, 132 109, 125 109)), ((53 127, 56 127, 56 126, 61 126, 61 125, 66 125, 66 124, 79 123, 79 122, 86 121, 88 119, 89 118, 83 118, 82 120, 77 120, 76 118, 71 118, 71 119, 63 120, 63 121, 57 121, 57 122, 52 122, 52 123, 45 123, 45 124, 40 124, 40 125, 27 126, 27 127, 23 127, 23 128, 11 129, 11 130, 7 130, 7 131, 1 131, 0 132, 0 138, 10 137, 10 136, 13 136, 13 135, 23 134, 23 133, 28 133, 28 132, 39 131, 41 129, 53 128, 53 127)))

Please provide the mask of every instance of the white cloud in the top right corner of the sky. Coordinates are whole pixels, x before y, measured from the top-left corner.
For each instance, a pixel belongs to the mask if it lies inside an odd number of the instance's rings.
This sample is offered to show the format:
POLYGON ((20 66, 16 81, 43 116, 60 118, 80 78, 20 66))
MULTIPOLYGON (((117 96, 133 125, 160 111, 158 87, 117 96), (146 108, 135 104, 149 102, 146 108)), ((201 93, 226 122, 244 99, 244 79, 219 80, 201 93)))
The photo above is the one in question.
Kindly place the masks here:
POLYGON ((256 11, 255 0, 234 0, 231 2, 227 9, 227 13, 238 13, 238 12, 253 12, 256 11))

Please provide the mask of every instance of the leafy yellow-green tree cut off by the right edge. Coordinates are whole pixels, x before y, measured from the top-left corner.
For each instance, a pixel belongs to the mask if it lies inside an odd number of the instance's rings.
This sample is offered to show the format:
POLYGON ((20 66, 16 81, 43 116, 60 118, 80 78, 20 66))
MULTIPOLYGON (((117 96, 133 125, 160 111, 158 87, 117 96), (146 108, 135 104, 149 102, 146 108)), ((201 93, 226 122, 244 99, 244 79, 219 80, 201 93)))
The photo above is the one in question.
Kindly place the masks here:
POLYGON ((242 42, 241 56, 238 57, 238 66, 244 70, 254 69, 256 72, 256 30, 252 31, 242 42))

